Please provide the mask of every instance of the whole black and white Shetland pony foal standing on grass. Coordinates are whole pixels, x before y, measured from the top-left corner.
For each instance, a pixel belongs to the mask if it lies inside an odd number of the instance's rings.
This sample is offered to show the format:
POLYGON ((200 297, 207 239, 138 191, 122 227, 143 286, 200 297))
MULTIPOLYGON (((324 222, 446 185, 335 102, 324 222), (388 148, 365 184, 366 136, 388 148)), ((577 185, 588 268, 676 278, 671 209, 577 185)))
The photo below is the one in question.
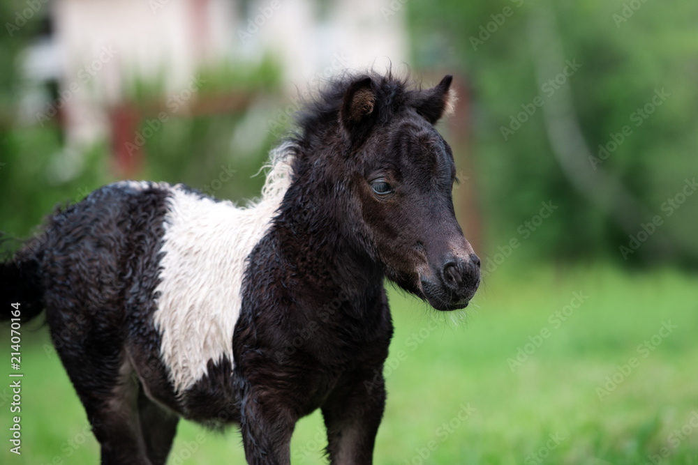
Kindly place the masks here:
POLYGON ((257 204, 115 183, 0 266, 3 312, 45 309, 103 464, 164 464, 179 416, 237 422, 250 464, 290 464, 295 423, 318 408, 332 463, 371 463, 393 331, 383 278, 438 310, 480 282, 433 128, 450 83, 335 79, 257 204))

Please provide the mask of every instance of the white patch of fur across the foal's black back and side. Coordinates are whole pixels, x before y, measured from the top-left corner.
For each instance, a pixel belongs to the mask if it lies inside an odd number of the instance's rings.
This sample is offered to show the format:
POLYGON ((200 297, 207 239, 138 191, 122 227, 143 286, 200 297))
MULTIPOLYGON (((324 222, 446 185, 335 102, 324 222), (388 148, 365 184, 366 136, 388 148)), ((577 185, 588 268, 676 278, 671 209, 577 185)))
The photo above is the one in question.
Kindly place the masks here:
POLYGON ((291 161, 291 155, 272 160, 262 198, 246 208, 170 188, 154 321, 178 394, 206 374, 209 360, 233 362, 245 259, 288 190, 291 161))

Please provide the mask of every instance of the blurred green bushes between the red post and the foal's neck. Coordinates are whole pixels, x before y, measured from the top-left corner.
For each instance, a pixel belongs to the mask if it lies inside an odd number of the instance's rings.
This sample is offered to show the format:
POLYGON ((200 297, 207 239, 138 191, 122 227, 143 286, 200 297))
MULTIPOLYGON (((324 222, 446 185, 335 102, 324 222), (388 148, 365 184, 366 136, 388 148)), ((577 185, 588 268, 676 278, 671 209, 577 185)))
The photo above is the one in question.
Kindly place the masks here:
MULTIPOLYGON (((232 107, 209 109, 210 114, 189 114, 187 109, 168 113, 168 121, 154 130, 143 146, 144 166, 141 178, 184 183, 221 199, 243 201, 258 196, 264 176, 260 168, 269 158, 269 149, 276 135, 260 119, 255 104, 268 96, 279 96, 280 70, 276 62, 265 56, 257 66, 207 66, 195 77, 200 83, 195 99, 215 105, 228 100, 232 107), (232 108, 232 109, 231 109, 232 108), (261 121, 260 121, 261 120, 261 121), (258 123, 245 135, 240 132, 258 123), (257 139, 246 144, 241 139, 257 139), (255 176, 257 175, 257 176, 255 176)), ((156 119, 158 110, 148 107, 168 96, 163 81, 135 79, 126 91, 130 101, 144 110, 141 128, 156 119)), ((225 103, 225 102, 223 102, 225 103)), ((281 105, 281 101, 279 102, 281 105)), ((209 105, 210 106, 210 105, 209 105)))

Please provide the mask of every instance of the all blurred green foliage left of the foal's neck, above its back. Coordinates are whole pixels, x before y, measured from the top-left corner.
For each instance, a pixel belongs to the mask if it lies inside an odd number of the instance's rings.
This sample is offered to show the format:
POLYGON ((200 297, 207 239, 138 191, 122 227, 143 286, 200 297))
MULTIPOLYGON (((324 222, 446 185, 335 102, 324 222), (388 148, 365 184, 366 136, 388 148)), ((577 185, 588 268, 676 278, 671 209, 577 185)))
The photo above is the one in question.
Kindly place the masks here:
MULTIPOLYGON (((12 3, 0 6, 2 24, 14 23, 16 8, 12 3)), ((57 118, 38 125, 17 117, 24 91, 22 50, 31 44, 38 21, 30 20, 11 37, 0 34, 0 231, 18 238, 39 231, 42 219, 54 207, 80 201, 92 190, 125 176, 112 155, 113 142, 67 147, 57 118)), ((199 114, 191 114, 188 107, 165 106, 169 93, 164 75, 165 70, 156 77, 124 79, 124 101, 141 115, 131 143, 159 111, 168 115, 145 139, 142 166, 128 177, 186 183, 242 203, 259 195, 264 177, 254 175, 267 161, 277 136, 269 132, 264 119, 254 144, 240 144, 245 135, 238 135, 238 140, 233 136, 261 96, 269 96, 272 102, 280 98, 276 61, 265 56, 253 66, 223 63, 200 70, 192 101, 205 101, 211 108, 199 114), (223 109, 216 107, 221 101, 223 109)))

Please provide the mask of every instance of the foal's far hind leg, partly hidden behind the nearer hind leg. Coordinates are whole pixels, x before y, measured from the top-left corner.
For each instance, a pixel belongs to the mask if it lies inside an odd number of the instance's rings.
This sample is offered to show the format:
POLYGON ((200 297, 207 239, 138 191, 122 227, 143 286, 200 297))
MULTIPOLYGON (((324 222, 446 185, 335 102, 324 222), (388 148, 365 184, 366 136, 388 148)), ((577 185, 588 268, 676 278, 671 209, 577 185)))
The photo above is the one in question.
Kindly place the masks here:
POLYGON ((164 465, 177 434, 179 416, 149 399, 142 386, 138 392, 138 416, 140 427, 153 465, 164 465))

